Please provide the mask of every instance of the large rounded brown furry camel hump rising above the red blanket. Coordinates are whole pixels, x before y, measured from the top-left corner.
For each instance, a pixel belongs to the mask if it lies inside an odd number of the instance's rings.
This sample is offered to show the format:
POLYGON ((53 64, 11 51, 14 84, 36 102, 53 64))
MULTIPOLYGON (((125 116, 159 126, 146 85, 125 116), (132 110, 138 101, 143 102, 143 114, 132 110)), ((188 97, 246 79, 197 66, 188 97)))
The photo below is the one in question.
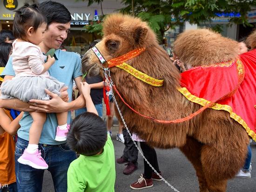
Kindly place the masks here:
POLYGON ((174 53, 187 65, 209 66, 234 60, 239 52, 237 44, 209 29, 187 30, 175 40, 174 53))

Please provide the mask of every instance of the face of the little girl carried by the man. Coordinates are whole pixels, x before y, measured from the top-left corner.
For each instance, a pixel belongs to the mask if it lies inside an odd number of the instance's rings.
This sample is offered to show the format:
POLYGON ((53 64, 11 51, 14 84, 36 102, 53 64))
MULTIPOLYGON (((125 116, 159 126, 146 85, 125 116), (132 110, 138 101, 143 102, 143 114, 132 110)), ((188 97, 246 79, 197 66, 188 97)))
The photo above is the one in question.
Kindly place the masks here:
POLYGON ((27 40, 30 42, 30 43, 33 43, 34 45, 39 45, 42 40, 43 40, 43 34, 46 30, 46 26, 47 24, 46 23, 42 23, 36 31, 34 31, 33 27, 31 30, 28 29, 28 32, 27 32, 27 40))

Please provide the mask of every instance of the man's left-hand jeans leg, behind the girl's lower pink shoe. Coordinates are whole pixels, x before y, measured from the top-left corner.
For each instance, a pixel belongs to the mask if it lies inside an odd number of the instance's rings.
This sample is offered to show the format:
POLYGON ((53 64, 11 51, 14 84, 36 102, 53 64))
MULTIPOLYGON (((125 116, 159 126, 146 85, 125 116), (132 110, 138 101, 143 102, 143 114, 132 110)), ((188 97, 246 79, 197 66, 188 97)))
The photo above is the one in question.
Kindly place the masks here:
MULTIPOLYGON (((18 137, 15 147, 15 174, 16 183, 19 192, 40 192, 42 190, 44 170, 34 169, 31 166, 23 165, 18 162, 18 159, 23 154, 28 145, 28 141, 18 137)), ((44 157, 44 151, 41 150, 41 156, 44 157)))

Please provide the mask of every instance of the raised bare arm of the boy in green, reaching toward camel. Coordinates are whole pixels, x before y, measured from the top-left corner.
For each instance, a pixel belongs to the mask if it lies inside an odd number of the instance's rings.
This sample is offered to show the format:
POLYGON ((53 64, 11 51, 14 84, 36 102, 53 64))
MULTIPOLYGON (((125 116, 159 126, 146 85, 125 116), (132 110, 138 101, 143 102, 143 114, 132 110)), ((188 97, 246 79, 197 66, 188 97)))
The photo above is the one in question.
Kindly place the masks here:
POLYGON ((98 115, 98 112, 94 106, 93 100, 90 95, 91 86, 87 82, 81 82, 81 91, 85 99, 85 105, 86 105, 87 111, 98 115))

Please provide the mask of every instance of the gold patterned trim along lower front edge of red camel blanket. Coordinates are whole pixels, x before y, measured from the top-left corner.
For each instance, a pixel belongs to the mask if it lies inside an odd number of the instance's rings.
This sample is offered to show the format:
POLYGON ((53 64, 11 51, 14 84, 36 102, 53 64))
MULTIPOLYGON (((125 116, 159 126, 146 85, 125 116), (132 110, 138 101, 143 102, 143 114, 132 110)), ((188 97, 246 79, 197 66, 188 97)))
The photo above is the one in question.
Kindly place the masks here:
MULTIPOLYGON (((182 93, 182 95, 184 95, 189 101, 191 101, 193 103, 197 103, 201 106, 205 106, 208 103, 210 103, 210 101, 208 101, 206 99, 202 99, 202 98, 196 97, 195 95, 192 95, 186 87, 179 87, 177 89, 180 93, 182 93)), ((247 123, 239 115, 237 115, 236 113, 234 113, 232 111, 231 106, 215 103, 213 106, 211 106, 209 108, 212 108, 215 110, 224 110, 224 111, 229 112, 230 118, 234 119, 236 122, 238 122, 240 125, 242 125, 244 127, 244 129, 246 130, 246 132, 248 133, 248 135, 251 136, 252 139, 256 141, 256 133, 249 128, 247 123)))

